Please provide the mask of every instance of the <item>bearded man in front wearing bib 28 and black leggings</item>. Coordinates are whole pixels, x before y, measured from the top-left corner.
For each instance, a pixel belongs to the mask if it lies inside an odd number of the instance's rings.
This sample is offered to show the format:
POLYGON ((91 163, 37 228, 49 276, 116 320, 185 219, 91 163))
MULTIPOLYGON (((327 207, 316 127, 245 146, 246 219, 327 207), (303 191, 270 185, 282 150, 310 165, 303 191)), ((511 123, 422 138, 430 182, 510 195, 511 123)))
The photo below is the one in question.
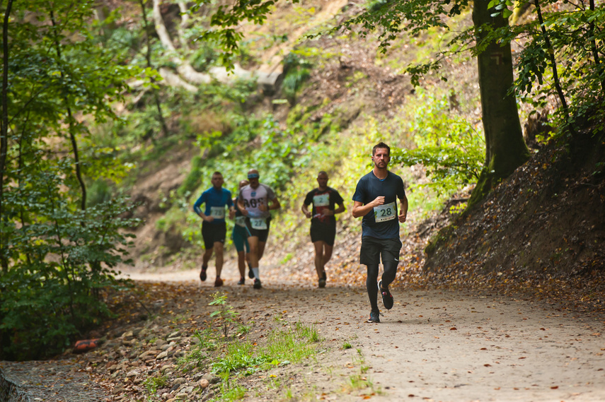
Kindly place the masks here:
POLYGON ((397 273, 401 250, 399 223, 404 223, 408 215, 408 198, 401 177, 386 168, 391 160, 391 148, 386 143, 377 143, 372 148, 371 159, 374 169, 357 182, 351 212, 354 218, 363 216, 359 263, 367 266, 366 286, 371 305, 368 322, 380 322, 376 302, 379 291, 384 307, 393 307, 393 295, 388 291, 388 285, 395 280, 397 273), (381 256, 384 273, 376 285, 381 256))

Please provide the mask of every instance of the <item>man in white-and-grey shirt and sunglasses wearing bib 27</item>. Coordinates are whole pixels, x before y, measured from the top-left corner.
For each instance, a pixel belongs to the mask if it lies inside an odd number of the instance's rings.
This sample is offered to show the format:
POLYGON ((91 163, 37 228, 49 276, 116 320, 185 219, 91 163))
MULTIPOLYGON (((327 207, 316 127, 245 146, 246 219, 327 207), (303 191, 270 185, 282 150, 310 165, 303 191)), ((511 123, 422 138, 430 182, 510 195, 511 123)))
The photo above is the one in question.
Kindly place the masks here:
POLYGON ((248 171, 248 186, 239 191, 238 208, 246 216, 246 231, 250 245, 250 265, 254 275, 254 288, 260 289, 260 275, 258 261, 263 258, 265 244, 269 236, 271 221, 270 210, 280 209, 280 201, 271 187, 261 184, 258 179, 258 170, 248 171))

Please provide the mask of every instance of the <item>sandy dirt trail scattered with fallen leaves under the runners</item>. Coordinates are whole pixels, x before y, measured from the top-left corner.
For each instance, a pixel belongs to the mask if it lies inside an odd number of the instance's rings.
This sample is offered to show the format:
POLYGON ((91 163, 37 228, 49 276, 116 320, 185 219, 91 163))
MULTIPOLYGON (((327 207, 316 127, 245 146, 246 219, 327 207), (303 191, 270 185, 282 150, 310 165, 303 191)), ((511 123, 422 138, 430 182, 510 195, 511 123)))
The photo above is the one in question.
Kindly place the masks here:
MULTIPOLYGON (((605 341, 602 318, 557 305, 468 291, 393 290, 395 306, 380 324, 367 324, 364 288, 330 283, 283 283, 277 268, 265 268, 263 289, 236 285, 233 266, 224 268, 224 290, 258 336, 275 317, 314 324, 328 350, 321 370, 304 380, 285 374, 290 389, 325 400, 375 401, 604 401, 605 341), (350 343, 352 348, 342 346, 350 343), (347 389, 360 367, 373 386, 347 389), (345 391, 343 391, 345 390, 345 391)), ((200 287, 197 305, 214 291, 197 271, 131 274, 135 279, 182 280, 200 287)), ((380 303, 379 303, 380 305, 380 303)), ((278 374, 279 376, 279 374, 278 374)), ((254 379, 250 379, 250 388, 254 379)), ((299 394, 300 395, 300 394, 299 394)), ((246 401, 275 396, 248 392, 246 401)), ((283 398, 283 396, 282 396, 283 398)))

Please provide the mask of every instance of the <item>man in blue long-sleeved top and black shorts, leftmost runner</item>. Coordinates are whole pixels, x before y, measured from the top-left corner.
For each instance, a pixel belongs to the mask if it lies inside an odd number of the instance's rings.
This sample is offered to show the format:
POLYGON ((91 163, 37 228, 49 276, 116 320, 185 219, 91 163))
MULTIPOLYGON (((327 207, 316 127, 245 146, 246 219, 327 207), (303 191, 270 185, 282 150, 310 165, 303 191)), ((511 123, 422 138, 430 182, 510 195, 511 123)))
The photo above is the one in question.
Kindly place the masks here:
POLYGON ((223 249, 227 227, 225 222, 225 207, 229 207, 229 217, 235 214, 234 203, 231 200, 231 191, 223 188, 223 175, 221 172, 212 174, 212 187, 202 193, 199 199, 193 204, 193 211, 200 215, 204 220, 202 222, 202 237, 204 239, 204 256, 202 257, 202 271, 200 280, 206 280, 206 270, 208 261, 212 257, 212 252, 217 254, 217 278, 214 280, 214 286, 223 285, 221 271, 223 270, 223 249), (202 203, 206 203, 205 211, 202 212, 202 203))

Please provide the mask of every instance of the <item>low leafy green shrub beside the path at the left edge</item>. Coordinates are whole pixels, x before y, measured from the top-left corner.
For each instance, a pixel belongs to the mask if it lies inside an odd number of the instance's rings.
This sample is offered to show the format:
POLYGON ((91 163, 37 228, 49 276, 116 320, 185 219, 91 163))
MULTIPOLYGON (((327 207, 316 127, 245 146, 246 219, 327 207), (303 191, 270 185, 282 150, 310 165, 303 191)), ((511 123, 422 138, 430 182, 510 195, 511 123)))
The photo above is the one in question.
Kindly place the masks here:
MULTIPOLYGON (((0 359, 30 360, 61 353, 76 335, 110 317, 106 288, 126 283, 113 268, 125 261, 134 225, 121 215, 126 200, 76 209, 59 191, 60 172, 28 177, 30 185, 4 194, 5 206, 23 214, 13 225, 0 269, 0 359)), ((6 231, 5 231, 6 232, 6 231)))

